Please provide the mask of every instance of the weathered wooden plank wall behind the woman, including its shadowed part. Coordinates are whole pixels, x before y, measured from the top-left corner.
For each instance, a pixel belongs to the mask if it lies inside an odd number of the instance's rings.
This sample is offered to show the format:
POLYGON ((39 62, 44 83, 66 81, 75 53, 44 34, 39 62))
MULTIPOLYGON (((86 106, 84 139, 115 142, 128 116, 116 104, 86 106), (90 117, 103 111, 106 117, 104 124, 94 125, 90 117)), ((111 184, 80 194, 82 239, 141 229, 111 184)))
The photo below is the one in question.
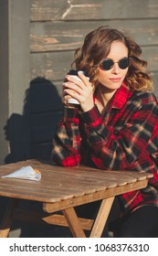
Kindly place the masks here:
POLYGON ((30 0, 31 156, 47 157, 61 113, 61 84, 90 30, 100 27, 127 30, 142 46, 158 82, 157 0, 30 0))

